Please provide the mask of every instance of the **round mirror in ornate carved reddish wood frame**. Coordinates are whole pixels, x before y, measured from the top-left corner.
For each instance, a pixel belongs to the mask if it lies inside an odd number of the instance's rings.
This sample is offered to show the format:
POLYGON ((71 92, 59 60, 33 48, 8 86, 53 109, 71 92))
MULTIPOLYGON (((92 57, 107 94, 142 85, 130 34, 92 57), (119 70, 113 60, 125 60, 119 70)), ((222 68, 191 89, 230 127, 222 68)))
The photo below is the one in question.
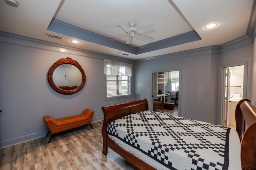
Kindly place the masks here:
POLYGON ((60 94, 74 94, 82 89, 86 76, 80 64, 67 57, 59 59, 48 71, 48 82, 60 94))

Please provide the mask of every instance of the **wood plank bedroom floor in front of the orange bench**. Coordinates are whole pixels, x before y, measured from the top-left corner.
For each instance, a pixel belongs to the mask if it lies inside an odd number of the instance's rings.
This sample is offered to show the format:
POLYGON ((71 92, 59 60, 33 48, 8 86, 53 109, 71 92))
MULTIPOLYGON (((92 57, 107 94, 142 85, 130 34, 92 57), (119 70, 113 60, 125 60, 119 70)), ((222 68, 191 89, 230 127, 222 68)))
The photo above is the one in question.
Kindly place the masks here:
POLYGON ((102 121, 0 149, 0 170, 134 170, 116 152, 102 154, 102 121))

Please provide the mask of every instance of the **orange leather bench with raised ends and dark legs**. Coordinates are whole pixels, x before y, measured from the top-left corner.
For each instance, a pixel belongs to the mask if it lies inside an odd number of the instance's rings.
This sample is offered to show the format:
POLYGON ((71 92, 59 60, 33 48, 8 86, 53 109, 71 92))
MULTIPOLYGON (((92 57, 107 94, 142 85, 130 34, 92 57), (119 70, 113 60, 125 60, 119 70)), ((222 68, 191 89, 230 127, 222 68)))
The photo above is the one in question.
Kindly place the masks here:
MULTIPOLYGON (((46 124, 49 128, 49 131, 46 137, 50 132, 52 133, 52 137, 53 137, 54 133, 66 131, 75 127, 80 127, 82 125, 88 125, 88 124, 90 125, 90 123, 92 122, 93 115, 94 115, 94 111, 90 109, 85 109, 84 112, 81 113, 80 115, 74 115, 74 116, 64 117, 60 119, 53 119, 48 115, 44 116, 44 120, 46 121, 46 124)), ((92 125, 90 125, 90 127, 92 128, 92 125)), ((50 143, 50 141, 52 140, 52 137, 48 143, 50 143)))

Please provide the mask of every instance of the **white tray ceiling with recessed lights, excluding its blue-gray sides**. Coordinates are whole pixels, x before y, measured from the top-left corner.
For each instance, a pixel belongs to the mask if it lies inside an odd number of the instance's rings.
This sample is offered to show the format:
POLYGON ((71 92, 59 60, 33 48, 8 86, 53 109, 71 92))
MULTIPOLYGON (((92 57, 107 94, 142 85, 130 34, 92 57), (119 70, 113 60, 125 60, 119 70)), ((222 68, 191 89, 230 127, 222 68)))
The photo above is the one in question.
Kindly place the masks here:
MULTIPOLYGON (((188 49, 221 45, 246 35, 253 0, 17 0, 18 8, 0 1, 0 31, 78 47, 128 59, 143 59, 188 49), (116 26, 122 21, 136 21, 137 29, 153 24, 155 31, 144 35, 154 37, 153 42, 195 30, 202 40, 176 45, 139 55, 127 53, 67 35, 48 31, 52 18, 93 31, 100 35, 118 34, 123 31, 116 26), (204 29, 208 23, 218 23, 213 29, 204 29), (51 33, 63 37, 47 37, 51 33)), ((115 38, 126 43, 127 38, 115 38)), ((149 42, 133 39, 132 46, 149 42)))

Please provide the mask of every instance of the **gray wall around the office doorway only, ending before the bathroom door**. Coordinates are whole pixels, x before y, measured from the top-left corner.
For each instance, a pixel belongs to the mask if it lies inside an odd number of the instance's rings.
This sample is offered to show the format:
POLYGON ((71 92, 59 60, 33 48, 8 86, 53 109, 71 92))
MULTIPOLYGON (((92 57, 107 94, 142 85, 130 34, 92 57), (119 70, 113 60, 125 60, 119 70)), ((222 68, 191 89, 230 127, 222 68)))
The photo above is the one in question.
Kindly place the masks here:
MULTIPOLYGON (((211 55, 211 47, 206 47, 158 58, 153 57, 151 60, 139 60, 135 65, 135 92, 140 93, 141 98, 148 99, 151 107, 151 71, 181 68, 180 116, 215 123, 216 109, 210 110, 210 105, 216 100, 215 98, 213 101, 210 95, 210 84, 216 82, 217 77, 212 79, 211 74, 218 73, 218 65, 214 58, 215 56, 211 55), (138 87, 137 84, 141 86, 138 87), (206 90, 207 93, 202 94, 202 90, 206 90)), ((217 91, 217 86, 212 88, 215 92, 217 91)))

